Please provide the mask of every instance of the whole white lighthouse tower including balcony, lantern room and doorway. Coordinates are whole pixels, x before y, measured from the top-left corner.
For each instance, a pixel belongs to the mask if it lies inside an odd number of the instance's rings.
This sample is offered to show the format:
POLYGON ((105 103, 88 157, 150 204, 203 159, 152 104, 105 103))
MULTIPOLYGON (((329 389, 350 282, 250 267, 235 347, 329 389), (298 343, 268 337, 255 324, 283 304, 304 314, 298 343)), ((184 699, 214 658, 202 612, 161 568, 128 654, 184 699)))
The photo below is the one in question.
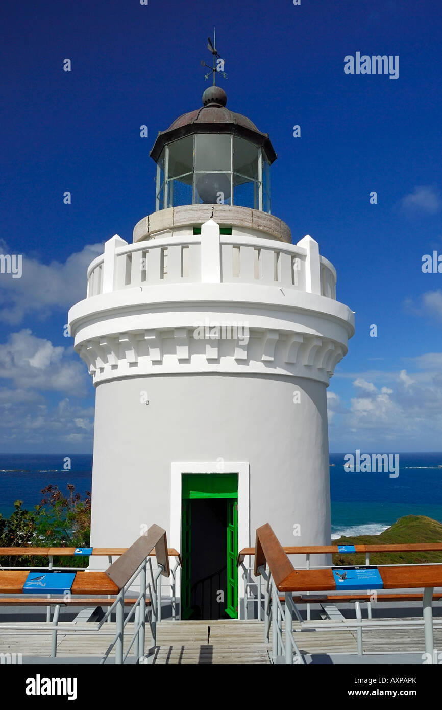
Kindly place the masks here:
POLYGON ((155 212, 106 242, 69 314, 96 388, 91 544, 158 523, 182 616, 235 617, 258 526, 330 542, 326 388, 353 312, 316 241, 271 214, 272 143, 221 88, 150 155, 155 212))

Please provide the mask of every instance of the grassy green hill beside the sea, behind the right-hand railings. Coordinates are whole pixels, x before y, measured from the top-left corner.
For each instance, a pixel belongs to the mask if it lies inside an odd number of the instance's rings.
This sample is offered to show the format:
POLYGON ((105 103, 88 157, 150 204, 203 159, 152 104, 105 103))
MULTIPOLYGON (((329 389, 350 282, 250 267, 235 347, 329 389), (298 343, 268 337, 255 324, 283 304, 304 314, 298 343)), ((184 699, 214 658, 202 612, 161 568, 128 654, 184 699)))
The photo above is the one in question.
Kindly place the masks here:
MULTIPOLYGON (((405 515, 380 535, 340 537, 333 545, 411 545, 417 542, 441 542, 442 524, 425 515, 405 515)), ((370 564, 424 564, 442 562, 442 552, 371 552, 370 564)), ((365 564, 365 554, 333 555, 333 564, 365 564)))

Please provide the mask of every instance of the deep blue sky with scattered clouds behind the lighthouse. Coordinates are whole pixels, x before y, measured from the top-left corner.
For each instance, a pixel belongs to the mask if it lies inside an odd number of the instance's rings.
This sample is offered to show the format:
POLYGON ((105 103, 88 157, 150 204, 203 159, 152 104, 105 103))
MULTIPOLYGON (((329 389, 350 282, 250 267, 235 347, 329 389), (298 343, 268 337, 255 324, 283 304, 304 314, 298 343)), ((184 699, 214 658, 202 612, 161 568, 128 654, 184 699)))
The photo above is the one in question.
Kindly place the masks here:
POLYGON ((436 4, 25 0, 1 23, 0 253, 22 254, 23 275, 0 273, 0 452, 92 450, 94 388, 67 311, 104 241, 131 241, 155 209, 149 151, 201 104, 214 25, 228 107, 278 154, 272 212, 293 241, 319 241, 356 312, 328 388, 331 451, 442 448, 442 273, 421 271, 442 254, 436 4), (397 80, 346 74, 357 51, 399 55, 397 80))

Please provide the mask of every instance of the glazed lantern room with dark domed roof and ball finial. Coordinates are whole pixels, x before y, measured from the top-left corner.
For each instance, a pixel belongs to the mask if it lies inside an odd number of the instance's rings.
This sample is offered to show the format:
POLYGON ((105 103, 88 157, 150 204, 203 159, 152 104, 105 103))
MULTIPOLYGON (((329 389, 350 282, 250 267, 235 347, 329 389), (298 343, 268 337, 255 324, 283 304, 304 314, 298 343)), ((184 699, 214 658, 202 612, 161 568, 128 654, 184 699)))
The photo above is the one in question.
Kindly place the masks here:
POLYGON ((203 105, 160 131, 150 156, 157 164, 155 210, 186 204, 229 204, 270 212, 270 165, 277 155, 268 133, 226 109, 221 87, 203 105))

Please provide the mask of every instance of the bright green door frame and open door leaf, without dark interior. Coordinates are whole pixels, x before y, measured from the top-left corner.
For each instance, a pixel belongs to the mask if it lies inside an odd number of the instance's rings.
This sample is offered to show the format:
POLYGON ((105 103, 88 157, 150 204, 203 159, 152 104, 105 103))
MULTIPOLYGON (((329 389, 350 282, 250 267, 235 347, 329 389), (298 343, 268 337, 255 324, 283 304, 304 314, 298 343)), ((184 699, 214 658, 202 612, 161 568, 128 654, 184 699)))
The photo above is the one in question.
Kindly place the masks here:
POLYGON ((238 616, 238 474, 182 474, 181 599, 183 619, 189 618, 192 572, 192 499, 224 498, 227 503, 227 589, 226 613, 238 616))

